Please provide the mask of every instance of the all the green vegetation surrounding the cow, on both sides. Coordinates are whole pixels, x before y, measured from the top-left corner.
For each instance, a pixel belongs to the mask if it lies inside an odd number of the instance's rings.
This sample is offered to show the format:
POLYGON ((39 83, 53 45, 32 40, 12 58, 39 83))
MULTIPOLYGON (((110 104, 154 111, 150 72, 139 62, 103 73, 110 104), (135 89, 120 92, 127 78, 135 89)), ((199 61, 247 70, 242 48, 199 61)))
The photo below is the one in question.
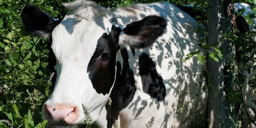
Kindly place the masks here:
MULTIPOLYGON (((156 1, 159 0, 96 0, 97 3, 111 8, 138 2, 151 3, 156 1)), ((203 9, 208 7, 207 0, 165 1, 178 5, 194 3, 201 6, 195 8, 199 12, 205 11, 203 9)), ((51 94, 51 73, 47 63, 48 49, 46 48, 49 39, 30 37, 21 22, 20 12, 25 5, 34 4, 55 18, 62 18, 67 14, 64 6, 61 5, 62 2, 70 2, 70 0, 0 0, 0 128, 44 128, 47 123, 47 121, 43 122, 41 119, 41 108, 51 94)), ((236 2, 250 3, 254 7, 255 13, 255 0, 237 0, 236 2)), ((200 16, 197 18, 200 18, 200 16)), ((248 20, 251 18, 253 16, 247 17, 248 20)), ((207 24, 207 20, 201 22, 207 24)), ((233 38, 235 32, 224 36, 236 43, 238 50, 241 51, 243 61, 251 61, 247 66, 240 66, 241 70, 235 71, 238 74, 237 78, 241 81, 234 82, 233 87, 237 89, 230 91, 230 101, 243 104, 239 88, 246 77, 243 76, 242 70, 252 71, 256 68, 253 65, 253 62, 256 62, 255 58, 248 56, 248 53, 255 55, 256 46, 250 40, 250 36, 255 33, 248 32, 246 35, 233 38), (236 97, 233 98, 233 96, 236 97)), ((207 45, 201 45, 203 48, 208 47, 207 45)), ((212 53, 212 58, 220 59, 220 56, 217 55, 221 53, 221 48, 219 48, 219 45, 213 47, 218 51, 212 53)), ((199 54, 199 61, 204 63, 204 56, 206 57, 207 54, 193 53, 188 57, 197 54, 199 54)), ((233 66, 239 66, 239 64, 233 66)), ((251 87, 256 87, 255 76, 249 80, 249 83, 251 87)), ((246 115, 246 113, 243 114, 246 115)), ((255 115, 249 114, 248 118, 256 120, 255 115)), ((240 118, 234 118, 234 125, 239 120, 240 118)))

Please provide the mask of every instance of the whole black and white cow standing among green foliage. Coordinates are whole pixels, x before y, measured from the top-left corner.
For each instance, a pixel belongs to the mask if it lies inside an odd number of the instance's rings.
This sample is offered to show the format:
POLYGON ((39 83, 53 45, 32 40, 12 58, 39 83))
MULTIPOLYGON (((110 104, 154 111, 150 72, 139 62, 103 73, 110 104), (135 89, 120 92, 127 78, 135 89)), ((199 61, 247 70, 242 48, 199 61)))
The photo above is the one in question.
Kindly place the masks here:
POLYGON ((61 20, 33 5, 21 12, 31 35, 51 35, 49 64, 57 75, 42 110, 49 126, 75 127, 85 113, 102 128, 115 120, 121 128, 143 128, 152 117, 153 128, 186 126, 185 108, 198 107, 202 90, 202 65, 182 63, 199 50, 195 19, 166 2, 114 11, 86 0, 63 5, 69 14, 61 20))

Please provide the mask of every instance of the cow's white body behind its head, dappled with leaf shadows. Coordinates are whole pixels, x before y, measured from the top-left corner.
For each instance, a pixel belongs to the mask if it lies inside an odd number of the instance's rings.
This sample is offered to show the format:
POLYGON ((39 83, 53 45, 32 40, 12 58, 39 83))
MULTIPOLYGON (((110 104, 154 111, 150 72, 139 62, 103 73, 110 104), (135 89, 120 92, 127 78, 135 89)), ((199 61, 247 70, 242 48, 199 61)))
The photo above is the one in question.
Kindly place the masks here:
MULTIPOLYGON (((202 88, 199 78, 202 76, 202 65, 195 58, 182 63, 187 53, 200 49, 197 41, 202 35, 196 33, 197 22, 166 2, 123 7, 117 9, 115 14, 120 16, 118 24, 124 26, 148 15, 159 15, 167 20, 166 30, 152 46, 135 50, 126 48, 136 92, 132 102, 120 112, 121 128, 145 127, 152 117, 153 128, 185 127, 187 123, 182 122, 189 118, 190 109, 195 110, 197 107, 196 94, 202 88), (143 64, 153 71, 147 72, 147 67, 143 67, 143 64), (154 86, 156 84, 159 86, 154 86), (154 94, 156 92, 160 92, 161 96, 154 94)), ((121 61, 121 54, 117 56, 117 60, 121 61)))

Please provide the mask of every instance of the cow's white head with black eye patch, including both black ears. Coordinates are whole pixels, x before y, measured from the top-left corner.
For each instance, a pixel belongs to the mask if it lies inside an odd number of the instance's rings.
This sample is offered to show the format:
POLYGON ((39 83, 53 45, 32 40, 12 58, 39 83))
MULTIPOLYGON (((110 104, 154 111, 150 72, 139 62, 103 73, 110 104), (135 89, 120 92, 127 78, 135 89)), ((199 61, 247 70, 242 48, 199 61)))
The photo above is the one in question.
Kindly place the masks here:
POLYGON ((151 45, 166 28, 166 21, 148 16, 121 29, 112 11, 94 2, 78 0, 64 6, 70 14, 62 21, 37 6, 26 6, 21 12, 31 35, 52 38, 57 79, 44 104, 43 118, 52 125, 72 126, 84 122, 87 113, 97 122, 102 113, 106 115, 104 105, 115 82, 117 51, 125 45, 151 45))

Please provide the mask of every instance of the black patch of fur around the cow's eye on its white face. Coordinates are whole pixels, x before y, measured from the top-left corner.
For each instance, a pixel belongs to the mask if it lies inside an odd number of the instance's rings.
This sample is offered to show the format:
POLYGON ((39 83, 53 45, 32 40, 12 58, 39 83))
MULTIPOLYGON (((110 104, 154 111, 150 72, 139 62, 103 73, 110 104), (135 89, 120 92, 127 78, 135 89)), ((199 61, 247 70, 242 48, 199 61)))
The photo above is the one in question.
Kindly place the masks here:
POLYGON ((118 46, 118 35, 121 29, 112 26, 110 35, 102 34, 98 39, 96 50, 90 59, 87 67, 89 78, 98 94, 107 94, 110 92, 115 80, 116 55, 120 48, 118 46), (100 58, 104 54, 105 59, 100 58))

